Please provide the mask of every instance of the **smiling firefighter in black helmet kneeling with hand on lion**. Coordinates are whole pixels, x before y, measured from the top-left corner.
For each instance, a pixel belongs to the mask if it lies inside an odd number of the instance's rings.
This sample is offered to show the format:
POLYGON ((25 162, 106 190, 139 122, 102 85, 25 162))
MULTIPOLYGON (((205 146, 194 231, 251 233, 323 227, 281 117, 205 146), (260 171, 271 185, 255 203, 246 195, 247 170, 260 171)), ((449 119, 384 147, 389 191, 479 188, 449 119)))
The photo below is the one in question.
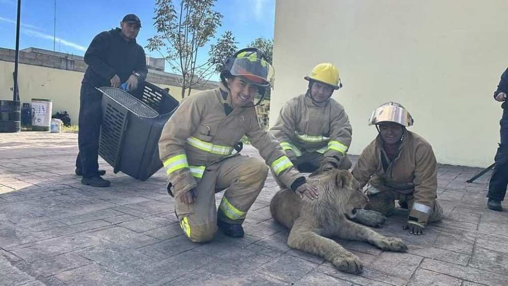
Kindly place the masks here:
POLYGON ((276 139, 258 123, 253 99, 273 84, 272 66, 255 48, 228 58, 218 88, 184 100, 164 126, 159 150, 168 174, 168 193, 185 235, 210 241, 217 226, 226 235, 242 237, 242 223, 268 174, 301 198, 317 199, 276 139), (246 135, 265 162, 238 153, 246 135), (236 152, 234 150, 237 150, 236 152), (215 193, 227 189, 218 210, 215 193))

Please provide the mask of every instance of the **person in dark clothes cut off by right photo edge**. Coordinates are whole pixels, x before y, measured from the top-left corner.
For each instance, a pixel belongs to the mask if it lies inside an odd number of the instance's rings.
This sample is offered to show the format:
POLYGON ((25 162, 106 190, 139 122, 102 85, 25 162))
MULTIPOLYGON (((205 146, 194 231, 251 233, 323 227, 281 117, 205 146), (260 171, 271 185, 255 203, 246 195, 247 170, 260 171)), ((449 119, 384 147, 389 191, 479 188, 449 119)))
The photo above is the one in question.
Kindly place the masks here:
POLYGON ((499 124, 501 125, 501 143, 497 148, 494 157, 496 165, 489 182, 489 193, 487 197, 489 201, 487 207, 491 210, 501 211, 501 201, 506 195, 506 186, 508 185, 508 102, 506 102, 508 94, 508 69, 501 75, 501 81, 494 92, 494 99, 502 102, 503 116, 499 124))

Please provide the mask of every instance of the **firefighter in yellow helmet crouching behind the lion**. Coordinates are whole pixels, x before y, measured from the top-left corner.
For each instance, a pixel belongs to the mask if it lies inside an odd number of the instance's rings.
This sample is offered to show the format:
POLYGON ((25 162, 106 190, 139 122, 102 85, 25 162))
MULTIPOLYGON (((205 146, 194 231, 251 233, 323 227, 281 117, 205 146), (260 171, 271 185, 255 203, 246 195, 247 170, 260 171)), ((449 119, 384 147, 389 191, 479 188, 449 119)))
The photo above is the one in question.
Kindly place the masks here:
POLYGON ((302 172, 347 170, 352 128, 342 105, 331 98, 342 87, 339 71, 320 63, 305 79, 307 92, 284 104, 270 132, 302 172))

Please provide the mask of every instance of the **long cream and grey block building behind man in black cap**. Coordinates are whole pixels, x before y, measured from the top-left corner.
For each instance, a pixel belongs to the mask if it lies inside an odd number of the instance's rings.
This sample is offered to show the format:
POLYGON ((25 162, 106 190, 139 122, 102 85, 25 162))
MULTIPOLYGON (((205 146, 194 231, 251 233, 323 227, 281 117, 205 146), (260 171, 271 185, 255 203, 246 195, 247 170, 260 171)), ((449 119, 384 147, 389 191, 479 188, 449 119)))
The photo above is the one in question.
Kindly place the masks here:
MULTIPOLYGON (((0 99, 12 99, 14 55, 15 50, 0 48, 0 99)), ((169 93, 180 100, 180 76, 164 72, 163 58, 147 56, 147 64, 146 80, 161 88, 169 88, 169 93)), ((21 102, 30 102, 33 98, 51 99, 53 113, 67 111, 72 124, 77 124, 79 90, 86 68, 82 56, 38 48, 20 50, 18 84, 21 102)), ((209 81, 200 89, 215 88, 217 84, 209 81)))

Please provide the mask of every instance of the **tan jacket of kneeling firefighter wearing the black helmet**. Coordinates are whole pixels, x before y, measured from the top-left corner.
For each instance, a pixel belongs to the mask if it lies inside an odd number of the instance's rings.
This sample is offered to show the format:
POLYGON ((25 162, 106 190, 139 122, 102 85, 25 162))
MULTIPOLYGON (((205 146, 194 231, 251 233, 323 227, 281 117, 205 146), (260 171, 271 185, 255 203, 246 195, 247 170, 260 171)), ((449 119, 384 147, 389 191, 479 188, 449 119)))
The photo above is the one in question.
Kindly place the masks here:
POLYGON ((260 127, 253 106, 230 108, 229 90, 220 84, 184 100, 164 126, 159 153, 175 198, 196 187, 207 166, 231 156, 243 135, 286 185, 305 181, 273 135, 260 127))

